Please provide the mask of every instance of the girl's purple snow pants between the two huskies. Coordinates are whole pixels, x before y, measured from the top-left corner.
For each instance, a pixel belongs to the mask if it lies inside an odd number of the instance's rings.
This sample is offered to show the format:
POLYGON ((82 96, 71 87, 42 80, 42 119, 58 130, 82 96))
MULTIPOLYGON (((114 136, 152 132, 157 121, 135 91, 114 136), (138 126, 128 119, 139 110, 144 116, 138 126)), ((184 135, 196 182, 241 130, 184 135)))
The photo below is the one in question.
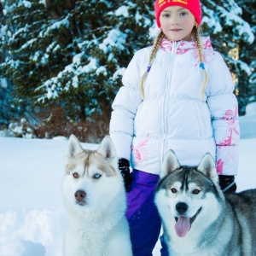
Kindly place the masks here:
MULTIPOLYGON (((160 236, 160 215, 154 205, 154 189, 159 176, 138 170, 133 170, 131 176, 131 191, 126 194, 126 218, 130 225, 132 252, 133 256, 149 256, 160 236)), ((161 255, 168 256, 163 242, 161 255)))

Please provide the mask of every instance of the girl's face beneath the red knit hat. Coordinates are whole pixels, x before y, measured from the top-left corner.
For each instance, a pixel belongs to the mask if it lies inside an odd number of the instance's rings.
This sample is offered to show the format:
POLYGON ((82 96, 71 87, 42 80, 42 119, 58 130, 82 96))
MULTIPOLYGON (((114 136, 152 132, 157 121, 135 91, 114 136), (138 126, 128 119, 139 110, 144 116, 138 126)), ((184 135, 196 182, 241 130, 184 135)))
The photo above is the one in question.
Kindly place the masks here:
POLYGON ((195 24, 195 16, 180 6, 167 7, 160 13, 160 27, 168 40, 189 41, 195 24))

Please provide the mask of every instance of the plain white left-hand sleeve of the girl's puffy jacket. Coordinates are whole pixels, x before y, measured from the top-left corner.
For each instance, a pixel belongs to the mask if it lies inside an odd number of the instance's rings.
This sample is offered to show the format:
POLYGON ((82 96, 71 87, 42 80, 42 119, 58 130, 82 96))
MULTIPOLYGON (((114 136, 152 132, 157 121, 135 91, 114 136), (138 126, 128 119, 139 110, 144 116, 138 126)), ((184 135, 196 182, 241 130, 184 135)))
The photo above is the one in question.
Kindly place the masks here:
MULTIPOLYGON (((134 118, 143 102, 139 82, 141 79, 141 56, 138 51, 125 70, 122 83, 113 101, 109 133, 119 158, 130 160, 134 118)), ((145 70, 146 71, 146 70, 145 70)))

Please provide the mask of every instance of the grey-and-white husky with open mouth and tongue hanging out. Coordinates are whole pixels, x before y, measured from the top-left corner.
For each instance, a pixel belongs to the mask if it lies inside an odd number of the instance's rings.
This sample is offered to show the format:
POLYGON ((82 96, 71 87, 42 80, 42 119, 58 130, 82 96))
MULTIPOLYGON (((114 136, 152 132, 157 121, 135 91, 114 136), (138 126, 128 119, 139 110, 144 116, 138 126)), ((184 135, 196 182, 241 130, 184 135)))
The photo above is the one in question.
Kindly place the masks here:
POLYGON ((211 154, 180 166, 168 151, 155 204, 170 255, 256 255, 256 189, 224 195, 211 154))

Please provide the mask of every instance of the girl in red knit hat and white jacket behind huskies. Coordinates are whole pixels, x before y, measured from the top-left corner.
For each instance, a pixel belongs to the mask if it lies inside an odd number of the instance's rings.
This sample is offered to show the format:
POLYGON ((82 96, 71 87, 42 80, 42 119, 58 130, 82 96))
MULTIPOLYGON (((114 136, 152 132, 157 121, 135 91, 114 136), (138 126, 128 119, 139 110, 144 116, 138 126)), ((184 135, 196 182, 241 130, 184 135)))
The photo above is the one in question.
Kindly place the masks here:
MULTIPOLYGON (((127 193, 133 255, 152 255, 160 234, 154 189, 166 152, 197 166, 210 152, 222 189, 236 190, 239 125, 234 84, 210 38, 199 36, 199 0, 157 0, 160 34, 125 70, 113 101, 110 136, 127 193)), ((167 255, 166 250, 162 253, 167 255)), ((162 254, 162 255, 163 255, 162 254)))

